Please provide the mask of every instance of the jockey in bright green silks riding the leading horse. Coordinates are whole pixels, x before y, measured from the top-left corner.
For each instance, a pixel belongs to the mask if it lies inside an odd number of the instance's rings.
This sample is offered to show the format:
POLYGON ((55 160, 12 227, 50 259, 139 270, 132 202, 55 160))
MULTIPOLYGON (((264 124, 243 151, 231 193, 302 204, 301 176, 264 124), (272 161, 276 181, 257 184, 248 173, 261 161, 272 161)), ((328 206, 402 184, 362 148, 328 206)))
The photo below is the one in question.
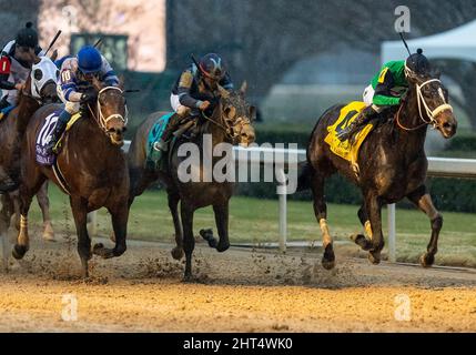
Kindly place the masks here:
POLYGON ((408 57, 406 61, 391 61, 374 77, 372 83, 364 91, 364 111, 347 128, 338 133, 341 141, 352 138, 357 131, 385 109, 399 105, 408 91, 408 79, 418 74, 429 73, 428 59, 421 49, 408 57))

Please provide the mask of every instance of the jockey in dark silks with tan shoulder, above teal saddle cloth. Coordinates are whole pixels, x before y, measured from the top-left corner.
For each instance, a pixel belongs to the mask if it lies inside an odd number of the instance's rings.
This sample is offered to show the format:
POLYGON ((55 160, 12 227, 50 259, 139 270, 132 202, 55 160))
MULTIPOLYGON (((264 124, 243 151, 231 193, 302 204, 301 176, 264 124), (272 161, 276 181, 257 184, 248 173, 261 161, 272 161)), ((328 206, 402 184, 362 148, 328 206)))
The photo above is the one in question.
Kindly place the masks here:
POLYGON ((156 149, 166 151, 166 142, 181 119, 196 116, 201 111, 211 108, 219 84, 226 90, 233 89, 223 60, 215 53, 204 55, 199 62, 199 68, 192 64, 180 74, 170 97, 176 115, 169 121, 162 139, 155 143, 156 149))

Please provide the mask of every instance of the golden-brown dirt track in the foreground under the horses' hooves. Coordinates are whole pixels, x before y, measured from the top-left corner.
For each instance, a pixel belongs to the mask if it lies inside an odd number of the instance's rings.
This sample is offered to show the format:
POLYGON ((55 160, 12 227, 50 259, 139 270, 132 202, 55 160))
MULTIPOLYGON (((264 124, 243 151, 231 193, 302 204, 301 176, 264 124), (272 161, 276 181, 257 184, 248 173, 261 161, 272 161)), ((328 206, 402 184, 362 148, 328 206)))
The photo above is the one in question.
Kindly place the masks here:
MULTIPOLYGON (((476 332, 476 271, 372 266, 337 254, 224 254, 199 244, 198 281, 181 282, 171 245, 130 242, 113 261, 94 257, 78 278, 74 245, 37 242, 0 274, 0 332, 476 332), (78 321, 61 318, 64 294, 78 321), (395 297, 411 300, 409 322, 395 320, 395 297)), ((337 247, 338 253, 338 247, 337 247)))

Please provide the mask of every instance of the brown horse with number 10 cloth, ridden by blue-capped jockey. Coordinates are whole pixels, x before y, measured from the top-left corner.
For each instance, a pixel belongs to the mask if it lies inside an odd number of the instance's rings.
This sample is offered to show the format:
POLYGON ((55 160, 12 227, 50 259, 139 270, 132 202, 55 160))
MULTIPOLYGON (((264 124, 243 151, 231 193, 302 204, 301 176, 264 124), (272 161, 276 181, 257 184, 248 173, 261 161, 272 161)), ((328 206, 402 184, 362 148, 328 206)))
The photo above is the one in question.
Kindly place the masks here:
POLYGON ((28 211, 32 196, 49 179, 70 195, 84 277, 88 276, 88 261, 92 252, 104 258, 120 256, 125 252, 129 217, 129 174, 125 155, 121 150, 126 125, 125 99, 119 88, 102 88, 98 82, 94 87, 98 90, 95 104, 84 104, 82 118, 64 135, 57 158, 57 166, 62 178, 57 178, 51 166, 36 162, 34 149, 41 123, 57 111, 59 105, 43 106, 30 120, 21 158, 20 232, 12 251, 16 258, 21 258, 27 253, 28 211), (102 244, 97 244, 91 251, 87 214, 102 206, 111 214, 115 246, 105 248, 102 244))

